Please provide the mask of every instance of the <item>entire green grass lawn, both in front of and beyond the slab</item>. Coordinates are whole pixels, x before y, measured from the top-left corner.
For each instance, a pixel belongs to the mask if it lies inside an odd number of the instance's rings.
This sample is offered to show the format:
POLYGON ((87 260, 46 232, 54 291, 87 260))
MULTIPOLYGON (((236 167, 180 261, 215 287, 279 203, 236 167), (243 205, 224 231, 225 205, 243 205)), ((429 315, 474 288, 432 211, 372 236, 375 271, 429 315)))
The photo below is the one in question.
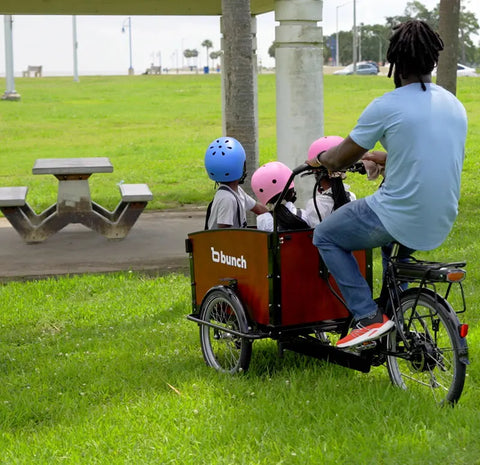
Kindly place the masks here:
MULTIPOLYGON (((211 198, 203 155, 221 132, 218 76, 18 79, 16 88, 20 102, 0 102, 0 185, 28 185, 34 208, 55 199, 56 179, 31 175, 36 158, 51 157, 110 157, 114 173, 93 175, 91 186, 111 208, 121 180, 147 182, 149 208, 211 198)), ((383 77, 325 76, 325 133, 347 134, 391 88, 383 77)), ((182 275, 8 282, 0 464, 480 464, 479 90, 480 80, 459 80, 469 135, 458 220, 442 247, 422 254, 468 262, 461 319, 471 365, 455 408, 394 388, 383 367, 360 374, 292 353, 279 359, 270 340, 254 343, 247 374, 220 375, 204 365, 185 318, 182 275)), ((259 76, 262 163, 276 153, 274 101, 274 76, 259 76)), ((348 182, 359 196, 376 188, 357 175, 348 182)))

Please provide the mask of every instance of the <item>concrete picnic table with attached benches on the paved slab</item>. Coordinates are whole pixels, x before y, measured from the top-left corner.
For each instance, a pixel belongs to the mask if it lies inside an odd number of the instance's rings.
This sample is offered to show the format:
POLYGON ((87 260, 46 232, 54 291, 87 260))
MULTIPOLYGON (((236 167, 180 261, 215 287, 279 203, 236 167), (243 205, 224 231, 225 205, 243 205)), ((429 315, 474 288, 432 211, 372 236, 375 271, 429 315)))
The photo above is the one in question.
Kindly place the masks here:
POLYGON ((81 223, 109 239, 123 239, 153 195, 146 184, 120 184, 122 199, 113 212, 92 201, 89 178, 111 173, 106 157, 40 158, 32 173, 58 179, 57 201, 36 214, 26 202, 28 188, 0 188, 0 210, 28 243, 42 242, 70 223, 81 223))

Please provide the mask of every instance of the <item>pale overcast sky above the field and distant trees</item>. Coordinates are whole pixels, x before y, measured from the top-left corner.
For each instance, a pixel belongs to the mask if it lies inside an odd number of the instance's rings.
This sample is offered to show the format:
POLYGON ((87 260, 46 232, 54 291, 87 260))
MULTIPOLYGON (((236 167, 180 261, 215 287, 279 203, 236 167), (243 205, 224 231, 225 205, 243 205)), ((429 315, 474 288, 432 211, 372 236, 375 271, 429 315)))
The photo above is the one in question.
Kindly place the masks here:
MULTIPOLYGON (((384 24, 387 16, 403 14, 408 0, 356 0, 356 22, 384 24)), ((421 0, 428 9, 438 0, 421 0)), ((480 19, 480 1, 462 0, 462 4, 480 19)), ((323 27, 325 35, 353 25, 353 0, 324 0, 323 27)), ((143 73, 150 64, 176 68, 187 64, 183 50, 197 49, 198 66, 207 64, 205 39, 213 49, 220 49, 218 16, 132 16, 131 29, 127 16, 77 16, 76 39, 78 73, 135 74, 143 73), (122 32, 124 29, 124 32, 122 32)), ((257 16, 257 54, 263 66, 274 66, 268 48, 275 40, 274 13, 257 16)), ((28 65, 42 65, 44 75, 73 75, 72 16, 13 16, 13 54, 15 76, 21 76, 28 65)), ((211 64, 211 63, 210 63, 211 64)), ((5 76, 4 21, 0 21, 0 76, 5 76)))

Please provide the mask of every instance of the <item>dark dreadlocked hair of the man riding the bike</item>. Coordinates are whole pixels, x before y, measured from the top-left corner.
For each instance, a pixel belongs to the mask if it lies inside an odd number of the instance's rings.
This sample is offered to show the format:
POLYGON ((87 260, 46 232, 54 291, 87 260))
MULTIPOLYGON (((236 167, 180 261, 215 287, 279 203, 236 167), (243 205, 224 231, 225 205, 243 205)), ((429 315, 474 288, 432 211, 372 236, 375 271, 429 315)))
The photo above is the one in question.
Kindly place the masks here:
POLYGON ((441 37, 424 21, 410 20, 394 27, 387 51, 390 63, 388 77, 395 68, 395 86, 400 87, 400 76, 414 75, 422 89, 427 90, 422 76, 430 74, 438 63, 438 54, 443 50, 441 37))

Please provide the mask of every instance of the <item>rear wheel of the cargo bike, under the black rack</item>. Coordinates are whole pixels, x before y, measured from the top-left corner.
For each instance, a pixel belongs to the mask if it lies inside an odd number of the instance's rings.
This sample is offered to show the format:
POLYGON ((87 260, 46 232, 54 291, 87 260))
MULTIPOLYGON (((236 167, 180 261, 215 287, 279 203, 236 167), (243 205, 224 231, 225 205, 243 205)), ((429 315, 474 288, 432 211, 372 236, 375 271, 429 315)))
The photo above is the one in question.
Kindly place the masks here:
POLYGON ((462 394, 467 343, 449 304, 428 289, 408 289, 400 296, 399 319, 407 343, 397 331, 387 335, 387 357, 393 384, 403 389, 430 389, 438 402, 455 403, 462 394))

